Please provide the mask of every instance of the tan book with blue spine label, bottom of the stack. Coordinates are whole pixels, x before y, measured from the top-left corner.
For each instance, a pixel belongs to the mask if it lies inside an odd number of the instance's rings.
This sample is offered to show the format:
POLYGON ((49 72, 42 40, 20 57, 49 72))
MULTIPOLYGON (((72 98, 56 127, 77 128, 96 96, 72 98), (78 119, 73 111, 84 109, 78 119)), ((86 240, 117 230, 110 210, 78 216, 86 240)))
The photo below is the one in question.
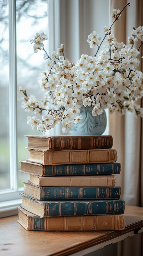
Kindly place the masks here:
POLYGON ((21 207, 17 222, 28 231, 113 231, 125 229, 125 216, 60 216, 40 218, 21 207))

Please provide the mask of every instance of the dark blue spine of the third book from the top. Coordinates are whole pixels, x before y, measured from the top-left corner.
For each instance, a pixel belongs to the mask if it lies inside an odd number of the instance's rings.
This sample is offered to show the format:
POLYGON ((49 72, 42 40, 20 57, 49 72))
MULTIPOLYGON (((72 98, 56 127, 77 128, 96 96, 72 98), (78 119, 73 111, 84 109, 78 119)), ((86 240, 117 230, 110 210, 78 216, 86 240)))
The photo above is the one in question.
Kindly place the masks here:
POLYGON ((119 174, 120 163, 43 165, 43 176, 119 174))

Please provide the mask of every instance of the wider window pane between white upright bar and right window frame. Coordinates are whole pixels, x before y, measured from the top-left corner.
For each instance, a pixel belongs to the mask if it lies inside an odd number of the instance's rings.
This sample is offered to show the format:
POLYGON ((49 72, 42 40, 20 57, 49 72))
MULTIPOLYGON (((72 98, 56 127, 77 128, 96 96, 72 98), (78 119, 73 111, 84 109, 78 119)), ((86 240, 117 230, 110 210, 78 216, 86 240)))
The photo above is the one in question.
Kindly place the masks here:
MULTIPOLYGON (((42 92, 38 85, 38 76, 44 70, 44 52, 34 53, 30 40, 34 39, 37 32, 47 33, 47 0, 16 1, 17 9, 17 87, 26 89, 28 94, 36 96, 37 100, 42 99, 42 92)), ((44 42, 45 48, 48 40, 44 42)), ((39 134, 37 130, 32 130, 27 125, 27 116, 32 116, 32 112, 25 112, 21 108, 20 93, 18 93, 17 117, 18 117, 18 169, 20 160, 26 160, 29 152, 25 147, 28 139, 26 134, 39 134)), ((22 181, 28 180, 29 175, 18 171, 18 186, 23 186, 22 181)))

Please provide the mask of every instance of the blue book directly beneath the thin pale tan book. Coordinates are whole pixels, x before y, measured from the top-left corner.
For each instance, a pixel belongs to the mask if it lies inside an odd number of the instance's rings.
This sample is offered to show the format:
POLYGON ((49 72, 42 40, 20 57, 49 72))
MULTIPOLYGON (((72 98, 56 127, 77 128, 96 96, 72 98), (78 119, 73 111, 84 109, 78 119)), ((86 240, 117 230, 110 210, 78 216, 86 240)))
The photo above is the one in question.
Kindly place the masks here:
POLYGON ((113 200, 121 194, 120 187, 41 187, 23 183, 23 193, 36 200, 113 200))

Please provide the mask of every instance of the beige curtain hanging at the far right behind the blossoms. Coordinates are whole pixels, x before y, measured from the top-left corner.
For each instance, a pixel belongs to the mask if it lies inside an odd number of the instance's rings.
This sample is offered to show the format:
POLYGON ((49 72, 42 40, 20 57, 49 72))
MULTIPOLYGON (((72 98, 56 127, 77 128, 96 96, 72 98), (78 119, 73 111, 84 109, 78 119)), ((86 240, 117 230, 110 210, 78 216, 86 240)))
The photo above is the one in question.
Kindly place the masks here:
MULTIPOLYGON (((122 10, 128 3, 126 0, 111 0, 110 15, 114 8, 122 10)), ((133 27, 143 25, 143 1, 131 0, 122 13, 119 21, 114 23, 113 33, 118 42, 127 42, 133 27)), ((110 19, 110 24, 113 20, 110 19)), ((138 45, 135 45, 138 47, 138 45)), ((140 51, 141 52, 141 51, 140 51)), ((139 55, 139 70, 143 71, 142 53, 139 55)), ((139 103, 142 103, 141 100, 139 103)), ((143 206, 143 135, 141 118, 132 113, 125 116, 109 115, 109 134, 113 136, 113 147, 117 149, 118 162, 122 164, 121 174, 117 176, 117 184, 121 186, 122 198, 126 205, 143 206)), ((143 255, 142 235, 128 238, 118 243, 118 256, 143 255)))

